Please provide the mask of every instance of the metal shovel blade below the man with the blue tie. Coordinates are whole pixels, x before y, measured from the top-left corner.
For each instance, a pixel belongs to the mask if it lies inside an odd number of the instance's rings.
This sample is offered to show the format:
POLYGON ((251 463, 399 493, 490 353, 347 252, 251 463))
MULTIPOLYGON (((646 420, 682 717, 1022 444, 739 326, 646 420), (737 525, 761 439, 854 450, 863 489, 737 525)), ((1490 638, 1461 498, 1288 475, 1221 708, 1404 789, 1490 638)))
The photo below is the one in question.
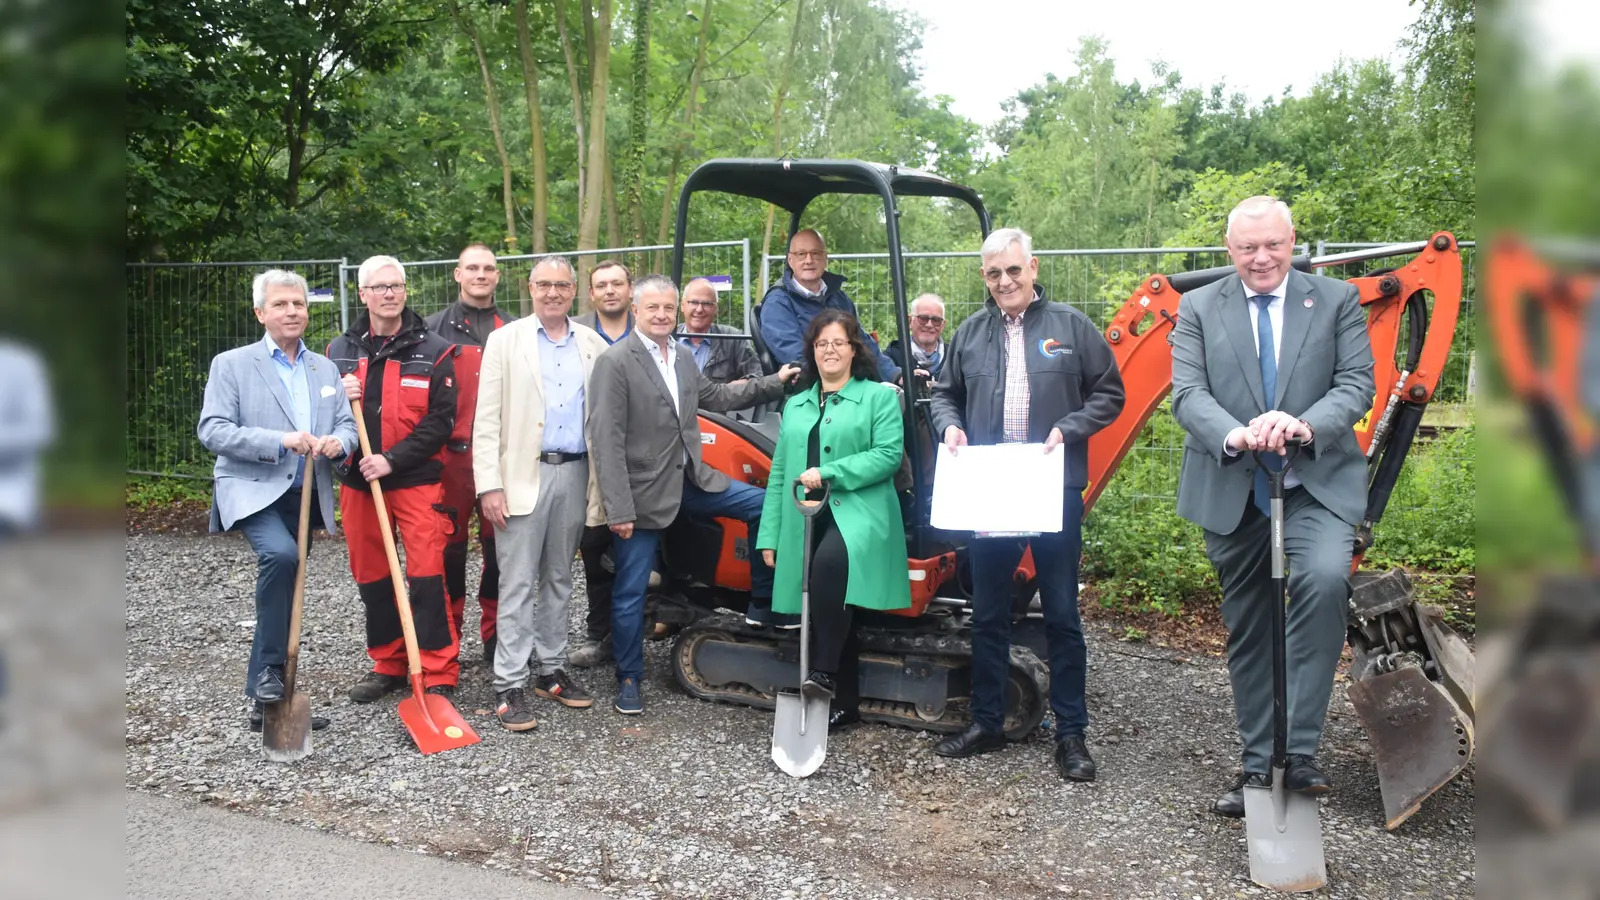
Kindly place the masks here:
POLYGON ((1272 890, 1296 894, 1328 884, 1318 814, 1315 798, 1291 793, 1283 786, 1283 769, 1272 769, 1270 788, 1245 785, 1250 881, 1272 890))

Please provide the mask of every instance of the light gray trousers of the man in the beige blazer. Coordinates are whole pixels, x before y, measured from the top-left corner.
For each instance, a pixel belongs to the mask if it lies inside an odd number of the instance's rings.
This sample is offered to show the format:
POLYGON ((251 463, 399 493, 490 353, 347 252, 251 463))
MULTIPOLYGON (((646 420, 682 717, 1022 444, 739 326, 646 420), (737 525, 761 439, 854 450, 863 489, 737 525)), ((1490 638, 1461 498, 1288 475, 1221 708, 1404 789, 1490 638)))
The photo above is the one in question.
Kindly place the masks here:
POLYGON ((539 463, 539 500, 533 512, 507 516, 506 527, 494 530, 494 559, 501 569, 494 690, 526 685, 534 660, 539 674, 566 665, 573 556, 587 506, 587 463, 539 463))

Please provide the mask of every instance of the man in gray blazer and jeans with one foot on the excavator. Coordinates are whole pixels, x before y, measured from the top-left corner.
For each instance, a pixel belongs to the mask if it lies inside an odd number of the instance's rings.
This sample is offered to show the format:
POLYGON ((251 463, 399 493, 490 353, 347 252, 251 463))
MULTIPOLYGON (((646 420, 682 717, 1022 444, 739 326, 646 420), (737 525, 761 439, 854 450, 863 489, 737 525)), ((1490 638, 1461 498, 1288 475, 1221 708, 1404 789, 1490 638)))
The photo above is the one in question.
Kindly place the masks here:
MULTIPOLYGON (((595 360, 590 376, 589 444, 600 480, 606 525, 611 528, 611 652, 616 655, 616 711, 645 711, 645 588, 656 560, 661 530, 682 509, 696 517, 746 522, 755 533, 765 492, 701 463, 699 408, 736 410, 778 400, 784 383, 800 370, 786 365, 776 375, 739 384, 707 381, 690 354, 678 352, 672 327, 678 317, 678 288, 664 275, 634 282, 634 336, 618 341, 595 360)), ((750 559, 750 605, 770 610, 773 570, 757 554, 750 559)))

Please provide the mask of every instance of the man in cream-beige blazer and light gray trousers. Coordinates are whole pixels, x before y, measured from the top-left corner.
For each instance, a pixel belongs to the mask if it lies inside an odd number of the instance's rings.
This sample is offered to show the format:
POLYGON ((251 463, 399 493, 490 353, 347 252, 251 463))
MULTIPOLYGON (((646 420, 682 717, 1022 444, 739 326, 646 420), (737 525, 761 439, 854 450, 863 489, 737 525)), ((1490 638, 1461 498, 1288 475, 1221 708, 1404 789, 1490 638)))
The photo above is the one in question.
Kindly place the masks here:
POLYGON ((472 477, 483 519, 494 525, 501 570, 496 716, 514 732, 538 725, 526 698, 530 669, 536 695, 594 705, 566 674, 566 607, 584 524, 605 522, 586 392, 606 343, 566 317, 576 282, 568 259, 541 259, 528 275, 534 317, 490 333, 478 375, 472 477))

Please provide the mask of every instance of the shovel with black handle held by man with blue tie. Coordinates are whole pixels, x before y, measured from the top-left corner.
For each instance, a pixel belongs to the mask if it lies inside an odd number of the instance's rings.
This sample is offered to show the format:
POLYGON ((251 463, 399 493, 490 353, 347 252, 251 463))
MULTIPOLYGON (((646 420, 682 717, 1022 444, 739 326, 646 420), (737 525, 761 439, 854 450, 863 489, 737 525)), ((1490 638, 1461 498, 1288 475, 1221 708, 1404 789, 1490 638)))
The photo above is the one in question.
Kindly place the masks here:
POLYGON ((1283 559, 1283 479, 1299 453, 1299 442, 1288 445, 1280 468, 1267 466, 1256 452, 1256 464, 1267 471, 1272 500, 1272 786, 1245 785, 1245 838, 1250 844, 1250 881, 1272 890, 1306 892, 1328 884, 1322 857, 1322 822, 1317 798, 1283 786, 1288 769, 1288 577, 1283 559))

